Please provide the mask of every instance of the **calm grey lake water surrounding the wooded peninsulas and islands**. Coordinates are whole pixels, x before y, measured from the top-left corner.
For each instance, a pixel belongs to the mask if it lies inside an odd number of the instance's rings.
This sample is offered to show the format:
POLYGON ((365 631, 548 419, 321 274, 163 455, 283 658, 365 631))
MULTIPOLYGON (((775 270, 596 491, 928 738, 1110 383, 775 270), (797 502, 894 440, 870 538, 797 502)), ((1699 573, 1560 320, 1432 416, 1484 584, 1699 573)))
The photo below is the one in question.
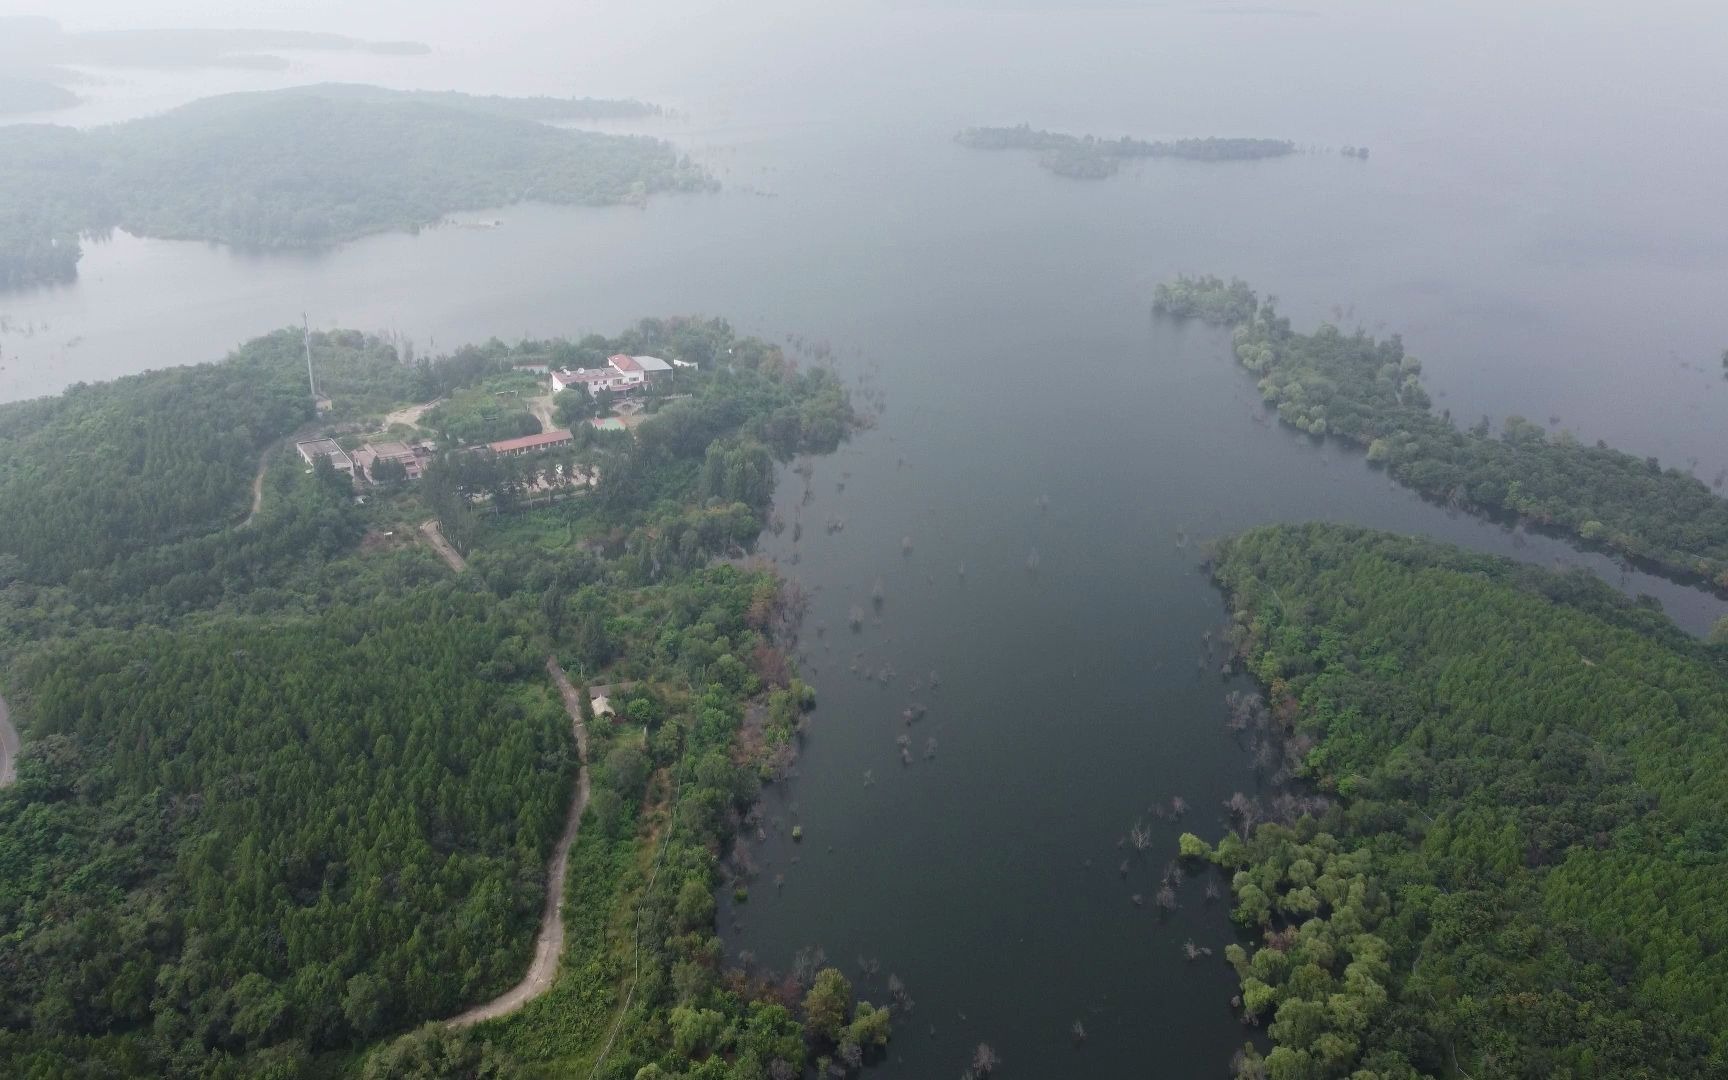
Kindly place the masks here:
POLYGON ((1218 1075, 1244 1039, 1217 956, 1232 930, 1196 881, 1173 914, 1153 904, 1178 828, 1218 835, 1222 800, 1256 783, 1222 727, 1236 684, 1201 664, 1203 632, 1225 619, 1201 541, 1351 520, 1588 565, 1693 631, 1723 613, 1562 543, 1448 517, 1360 456, 1267 423, 1222 334, 1151 318, 1158 280, 1236 273, 1298 325, 1403 332, 1455 415, 1557 416, 1585 439, 1697 460, 1706 479, 1728 467, 1721 16, 1389 7, 506 3, 467 33, 441 5, 392 3, 351 29, 427 38, 437 55, 131 76, 71 119, 316 78, 641 95, 684 112, 632 130, 688 147, 727 188, 646 209, 487 211, 473 218, 505 226, 323 254, 118 237, 73 287, 0 294, 0 399, 209 359, 302 311, 422 351, 683 311, 829 342, 886 411, 814 463, 809 503, 786 477, 781 515, 802 537, 764 543, 812 594, 802 646, 821 707, 798 778, 767 802, 805 840, 752 845, 762 874, 724 909, 731 947, 783 966, 821 945, 876 1001, 897 973, 918 1007, 881 1075, 957 1075, 980 1040, 1004 1075, 1218 1075), (950 142, 1021 119, 1313 152, 1075 183, 950 142), (1372 157, 1337 156, 1344 143, 1372 157), (867 612, 855 634, 854 605, 867 612), (885 688, 854 665, 897 674, 885 688), (912 702, 930 712, 909 727, 912 702), (1173 795, 1194 807, 1182 826, 1147 814, 1173 795), (1153 850, 1118 848, 1140 819, 1153 850), (1189 962, 1191 938, 1217 954, 1189 962), (880 961, 873 983, 861 956, 880 961), (1075 1020, 1090 1032, 1078 1049, 1075 1020))

